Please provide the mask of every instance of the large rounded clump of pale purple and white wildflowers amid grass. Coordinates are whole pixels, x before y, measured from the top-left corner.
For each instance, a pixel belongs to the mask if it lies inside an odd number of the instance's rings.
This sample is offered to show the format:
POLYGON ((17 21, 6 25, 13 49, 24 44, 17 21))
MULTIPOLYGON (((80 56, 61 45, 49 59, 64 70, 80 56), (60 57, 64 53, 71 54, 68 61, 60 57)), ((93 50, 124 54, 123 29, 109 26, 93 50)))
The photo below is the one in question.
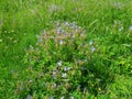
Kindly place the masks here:
POLYGON ((95 51, 94 42, 87 42, 85 30, 75 22, 56 22, 52 30, 41 32, 24 57, 28 72, 41 86, 34 90, 57 98, 69 98, 75 90, 85 94, 90 74, 86 69, 95 51))

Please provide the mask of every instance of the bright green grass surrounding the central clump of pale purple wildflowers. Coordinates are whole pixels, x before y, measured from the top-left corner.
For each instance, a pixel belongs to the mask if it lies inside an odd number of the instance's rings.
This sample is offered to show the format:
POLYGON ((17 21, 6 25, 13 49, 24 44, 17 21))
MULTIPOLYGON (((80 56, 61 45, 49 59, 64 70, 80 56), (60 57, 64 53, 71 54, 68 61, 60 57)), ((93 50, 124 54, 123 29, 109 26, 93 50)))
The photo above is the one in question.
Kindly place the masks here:
MULTIPOLYGON (((52 29, 55 21, 76 22, 86 30, 87 41, 96 43, 98 53, 89 66, 97 77, 103 77, 106 88, 88 97, 131 99, 131 0, 0 0, 0 99, 25 99, 30 95, 15 92, 30 76, 23 62, 25 50, 35 46, 36 35, 52 29), (108 67, 112 81, 102 76, 108 67)), ((43 91, 38 94, 35 99, 43 96, 43 91)), ((74 95, 81 97, 76 91, 74 95)))

